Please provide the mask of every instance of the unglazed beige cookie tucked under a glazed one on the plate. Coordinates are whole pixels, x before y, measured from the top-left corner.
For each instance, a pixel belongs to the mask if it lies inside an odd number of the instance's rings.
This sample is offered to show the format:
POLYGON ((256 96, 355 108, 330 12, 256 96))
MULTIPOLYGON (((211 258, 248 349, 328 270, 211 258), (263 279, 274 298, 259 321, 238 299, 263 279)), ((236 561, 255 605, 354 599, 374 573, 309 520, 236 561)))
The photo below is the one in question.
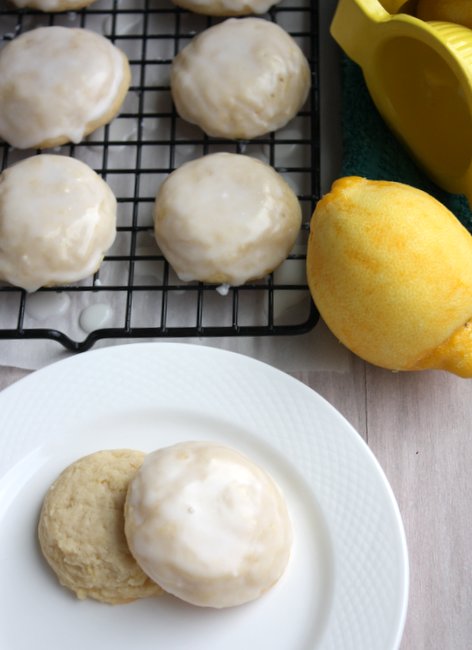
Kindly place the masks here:
POLYGON ((44 499, 38 526, 41 550, 59 582, 78 598, 126 603, 162 589, 129 552, 123 507, 140 451, 99 451, 69 465, 44 499))

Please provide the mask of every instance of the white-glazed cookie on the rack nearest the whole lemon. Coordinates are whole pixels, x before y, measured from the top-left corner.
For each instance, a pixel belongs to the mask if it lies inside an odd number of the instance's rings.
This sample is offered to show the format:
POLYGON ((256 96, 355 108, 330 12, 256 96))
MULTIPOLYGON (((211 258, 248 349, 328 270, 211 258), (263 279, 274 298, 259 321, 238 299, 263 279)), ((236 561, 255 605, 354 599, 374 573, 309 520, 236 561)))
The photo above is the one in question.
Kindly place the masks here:
POLYGON ((162 183, 156 241, 181 280, 241 285, 264 277, 290 252, 301 208, 283 177, 240 154, 185 163, 162 183))

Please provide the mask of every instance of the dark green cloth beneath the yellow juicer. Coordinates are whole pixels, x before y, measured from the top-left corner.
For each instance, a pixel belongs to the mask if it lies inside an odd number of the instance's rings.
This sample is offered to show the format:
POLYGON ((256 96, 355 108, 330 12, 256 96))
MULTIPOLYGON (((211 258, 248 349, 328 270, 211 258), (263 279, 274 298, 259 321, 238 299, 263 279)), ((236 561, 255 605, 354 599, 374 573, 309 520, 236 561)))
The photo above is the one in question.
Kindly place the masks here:
POLYGON ((449 194, 417 167, 377 111, 361 68, 342 58, 343 176, 363 176, 418 187, 441 201, 472 233, 472 211, 462 195, 449 194))

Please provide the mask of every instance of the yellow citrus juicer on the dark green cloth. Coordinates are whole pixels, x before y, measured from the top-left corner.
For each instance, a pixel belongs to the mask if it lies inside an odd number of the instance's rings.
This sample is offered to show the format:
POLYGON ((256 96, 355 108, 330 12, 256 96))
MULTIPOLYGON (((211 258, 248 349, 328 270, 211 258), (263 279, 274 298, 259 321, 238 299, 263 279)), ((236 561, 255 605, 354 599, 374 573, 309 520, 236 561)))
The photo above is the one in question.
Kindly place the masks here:
POLYGON ((425 22, 414 2, 340 0, 331 33, 428 175, 472 206, 472 30, 425 22))

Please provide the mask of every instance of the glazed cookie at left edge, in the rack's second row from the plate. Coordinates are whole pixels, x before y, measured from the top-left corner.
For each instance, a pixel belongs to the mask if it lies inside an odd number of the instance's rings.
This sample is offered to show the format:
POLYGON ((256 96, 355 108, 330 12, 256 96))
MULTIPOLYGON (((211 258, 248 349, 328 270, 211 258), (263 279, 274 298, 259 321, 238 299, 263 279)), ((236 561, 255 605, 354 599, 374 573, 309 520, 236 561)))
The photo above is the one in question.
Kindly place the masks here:
POLYGON ((80 142, 115 117, 130 78, 126 56, 100 34, 21 34, 0 52, 0 136, 20 149, 80 142))

